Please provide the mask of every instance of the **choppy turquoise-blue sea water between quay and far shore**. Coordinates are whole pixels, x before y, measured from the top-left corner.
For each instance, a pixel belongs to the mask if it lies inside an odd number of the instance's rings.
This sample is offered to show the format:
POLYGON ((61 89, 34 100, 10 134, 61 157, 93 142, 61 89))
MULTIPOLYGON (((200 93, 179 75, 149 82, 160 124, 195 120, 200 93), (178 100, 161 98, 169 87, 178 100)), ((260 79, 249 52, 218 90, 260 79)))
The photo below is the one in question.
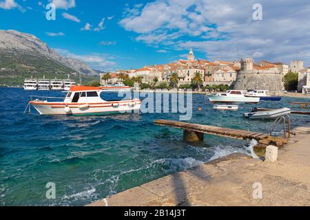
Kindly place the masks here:
MULTIPOLYGON (((156 119, 178 120, 176 113, 55 117, 32 109, 23 115, 30 95, 64 96, 0 88, 0 206, 83 206, 228 153, 251 153, 248 142, 205 135, 205 142, 188 144, 183 131, 154 125, 156 119), (45 197, 48 182, 56 184, 56 199, 45 197)), ((248 120, 242 113, 254 106, 288 107, 293 100, 309 101, 283 98, 214 111, 205 96, 194 94, 189 122, 264 132, 271 121, 248 120)), ((292 126, 309 121, 292 115, 292 126)))

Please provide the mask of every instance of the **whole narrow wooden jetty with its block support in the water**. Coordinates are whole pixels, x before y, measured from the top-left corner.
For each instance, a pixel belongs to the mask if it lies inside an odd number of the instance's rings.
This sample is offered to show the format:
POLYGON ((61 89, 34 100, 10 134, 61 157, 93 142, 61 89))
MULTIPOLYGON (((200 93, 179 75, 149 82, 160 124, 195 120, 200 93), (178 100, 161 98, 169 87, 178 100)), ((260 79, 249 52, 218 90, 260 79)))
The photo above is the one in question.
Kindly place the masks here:
POLYGON ((255 131, 243 131, 238 129, 229 129, 219 126, 209 126, 205 124, 192 124, 187 122, 177 122, 172 120, 155 120, 154 124, 159 126, 170 126, 176 129, 183 129, 183 140, 188 142, 203 141, 204 134, 218 135, 220 137, 229 137, 239 140, 257 140, 265 146, 274 144, 283 146, 287 144, 287 137, 273 137, 269 133, 260 133, 255 131))

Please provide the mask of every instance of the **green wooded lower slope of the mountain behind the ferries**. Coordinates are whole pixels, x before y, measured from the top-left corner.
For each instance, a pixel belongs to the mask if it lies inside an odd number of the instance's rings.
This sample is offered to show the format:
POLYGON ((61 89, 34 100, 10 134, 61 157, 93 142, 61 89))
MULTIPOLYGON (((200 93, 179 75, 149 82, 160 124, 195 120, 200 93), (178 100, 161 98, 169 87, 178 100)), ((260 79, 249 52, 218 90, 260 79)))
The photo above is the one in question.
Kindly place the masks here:
MULTIPOLYGON (((18 53, 18 52, 17 52, 18 53)), ((49 58, 31 56, 25 54, 0 54, 0 85, 21 86, 25 78, 70 78, 79 82, 79 76, 74 73, 74 69, 52 61, 49 58)), ((82 75, 82 83, 99 81, 99 76, 82 75)))

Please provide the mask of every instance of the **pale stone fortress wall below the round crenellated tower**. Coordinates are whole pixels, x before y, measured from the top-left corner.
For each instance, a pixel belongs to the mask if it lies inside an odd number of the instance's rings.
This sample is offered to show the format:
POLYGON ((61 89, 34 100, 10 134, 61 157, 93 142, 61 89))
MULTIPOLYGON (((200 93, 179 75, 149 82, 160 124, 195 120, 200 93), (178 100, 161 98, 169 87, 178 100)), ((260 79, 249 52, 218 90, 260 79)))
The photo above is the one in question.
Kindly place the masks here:
POLYGON ((281 74, 238 73, 237 80, 231 87, 238 90, 263 89, 269 90, 270 94, 282 94, 282 76, 281 74))

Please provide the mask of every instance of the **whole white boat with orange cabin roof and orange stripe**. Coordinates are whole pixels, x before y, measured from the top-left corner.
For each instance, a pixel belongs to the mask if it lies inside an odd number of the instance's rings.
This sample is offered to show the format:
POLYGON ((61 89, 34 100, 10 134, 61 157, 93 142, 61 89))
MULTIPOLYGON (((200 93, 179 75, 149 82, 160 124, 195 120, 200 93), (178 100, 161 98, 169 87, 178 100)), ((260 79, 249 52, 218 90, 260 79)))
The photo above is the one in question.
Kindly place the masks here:
POLYGON ((105 101, 100 97, 101 92, 101 87, 73 86, 63 102, 48 102, 46 98, 40 97, 44 100, 32 100, 29 104, 41 115, 130 113, 141 108, 139 99, 105 101))

